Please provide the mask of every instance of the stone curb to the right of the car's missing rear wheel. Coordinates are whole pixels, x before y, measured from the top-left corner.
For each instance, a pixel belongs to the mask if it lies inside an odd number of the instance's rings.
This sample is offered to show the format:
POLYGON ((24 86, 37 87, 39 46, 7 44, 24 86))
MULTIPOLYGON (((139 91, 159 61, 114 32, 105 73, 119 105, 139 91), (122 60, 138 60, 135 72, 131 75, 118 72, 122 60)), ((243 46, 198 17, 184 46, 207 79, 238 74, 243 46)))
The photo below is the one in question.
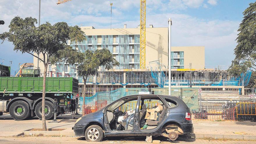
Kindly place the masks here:
POLYGON ((231 140, 256 140, 256 136, 248 135, 224 135, 224 134, 195 134, 195 138, 214 138, 231 140))

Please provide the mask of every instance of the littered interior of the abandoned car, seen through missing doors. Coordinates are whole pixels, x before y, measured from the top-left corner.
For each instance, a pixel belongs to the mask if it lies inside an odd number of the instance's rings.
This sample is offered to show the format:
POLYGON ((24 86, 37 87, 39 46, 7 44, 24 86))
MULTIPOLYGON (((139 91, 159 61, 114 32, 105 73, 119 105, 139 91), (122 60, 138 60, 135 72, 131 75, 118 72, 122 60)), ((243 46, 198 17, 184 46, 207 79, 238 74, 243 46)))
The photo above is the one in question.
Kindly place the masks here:
MULTIPOLYGON (((115 102, 107 108, 106 115, 111 130, 132 130, 138 97, 129 97, 115 102)), ((154 129, 159 125, 167 107, 159 97, 141 97, 139 126, 142 130, 154 129)))

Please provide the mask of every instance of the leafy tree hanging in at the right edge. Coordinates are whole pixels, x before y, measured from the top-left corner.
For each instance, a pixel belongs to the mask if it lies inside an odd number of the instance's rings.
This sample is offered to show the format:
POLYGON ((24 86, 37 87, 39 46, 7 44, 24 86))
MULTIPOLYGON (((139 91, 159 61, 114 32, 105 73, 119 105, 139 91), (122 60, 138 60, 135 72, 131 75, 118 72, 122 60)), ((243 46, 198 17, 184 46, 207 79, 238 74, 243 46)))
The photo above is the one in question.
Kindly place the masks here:
POLYGON ((256 70, 256 2, 249 5, 243 12, 234 49, 235 58, 228 70, 233 76, 239 76, 248 69, 256 70))

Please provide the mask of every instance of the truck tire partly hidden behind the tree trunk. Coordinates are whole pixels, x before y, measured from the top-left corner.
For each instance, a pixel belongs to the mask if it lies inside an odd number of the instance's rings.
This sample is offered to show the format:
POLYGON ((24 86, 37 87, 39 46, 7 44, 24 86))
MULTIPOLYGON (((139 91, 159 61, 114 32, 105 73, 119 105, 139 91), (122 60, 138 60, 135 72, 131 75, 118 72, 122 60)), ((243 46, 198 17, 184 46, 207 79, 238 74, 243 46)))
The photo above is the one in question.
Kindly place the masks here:
MULTIPOLYGON (((45 120, 53 118, 53 104, 49 101, 45 101, 45 120)), ((39 102, 35 106, 35 115, 42 120, 42 102, 39 102)))

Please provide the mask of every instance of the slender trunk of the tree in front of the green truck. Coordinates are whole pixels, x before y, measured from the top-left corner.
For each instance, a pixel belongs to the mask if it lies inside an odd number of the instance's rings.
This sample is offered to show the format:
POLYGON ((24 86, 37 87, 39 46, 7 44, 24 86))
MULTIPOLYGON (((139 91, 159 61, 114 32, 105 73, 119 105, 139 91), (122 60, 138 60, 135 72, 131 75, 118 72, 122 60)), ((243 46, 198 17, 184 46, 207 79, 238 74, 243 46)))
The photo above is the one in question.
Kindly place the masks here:
POLYGON ((43 79, 43 93, 42 93, 42 129, 43 131, 47 131, 46 129, 46 121, 45 121, 45 89, 46 89, 46 72, 48 65, 45 65, 44 70, 44 79, 43 79))

